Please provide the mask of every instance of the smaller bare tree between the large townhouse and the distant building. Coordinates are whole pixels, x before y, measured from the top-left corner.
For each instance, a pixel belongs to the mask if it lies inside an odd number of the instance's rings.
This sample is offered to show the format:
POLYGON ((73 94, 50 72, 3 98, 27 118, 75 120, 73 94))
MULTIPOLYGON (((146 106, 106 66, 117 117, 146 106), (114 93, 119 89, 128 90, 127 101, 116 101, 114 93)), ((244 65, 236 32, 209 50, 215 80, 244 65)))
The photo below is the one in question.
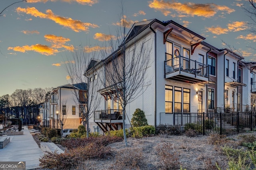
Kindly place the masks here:
MULTIPOLYGON (((82 47, 80 45, 80 47, 82 47)), ((96 52, 90 53, 85 48, 76 49, 71 57, 67 57, 71 60, 66 64, 66 71, 70 76, 71 83, 78 87, 79 90, 74 89, 74 101, 80 108, 82 117, 86 119, 86 135, 89 137, 89 119, 92 118, 94 111, 100 104, 100 96, 98 94, 98 78, 94 78, 93 81, 89 80, 89 77, 84 74, 88 69, 88 65, 97 63, 96 52)), ((96 73, 96 69, 92 68, 91 72, 96 73)))

